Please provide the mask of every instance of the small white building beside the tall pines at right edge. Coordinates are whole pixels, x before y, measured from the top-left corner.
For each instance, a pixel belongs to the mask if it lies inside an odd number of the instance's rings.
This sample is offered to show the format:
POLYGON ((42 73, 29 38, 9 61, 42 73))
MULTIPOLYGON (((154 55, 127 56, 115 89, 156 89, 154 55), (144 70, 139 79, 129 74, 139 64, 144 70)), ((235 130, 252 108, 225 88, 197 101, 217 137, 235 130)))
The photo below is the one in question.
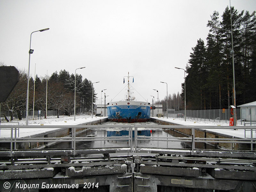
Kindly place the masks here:
POLYGON ((241 119, 256 122, 256 101, 239 105, 237 107, 240 107, 241 119))

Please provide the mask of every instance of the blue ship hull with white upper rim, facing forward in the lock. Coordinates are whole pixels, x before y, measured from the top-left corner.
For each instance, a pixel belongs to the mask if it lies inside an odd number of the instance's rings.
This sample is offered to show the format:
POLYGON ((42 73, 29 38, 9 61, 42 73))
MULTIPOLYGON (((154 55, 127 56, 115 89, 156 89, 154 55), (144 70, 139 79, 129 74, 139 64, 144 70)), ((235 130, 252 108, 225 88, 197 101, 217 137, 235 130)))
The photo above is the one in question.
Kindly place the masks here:
POLYGON ((150 120, 150 103, 140 101, 118 101, 109 103, 108 120, 124 123, 150 120))

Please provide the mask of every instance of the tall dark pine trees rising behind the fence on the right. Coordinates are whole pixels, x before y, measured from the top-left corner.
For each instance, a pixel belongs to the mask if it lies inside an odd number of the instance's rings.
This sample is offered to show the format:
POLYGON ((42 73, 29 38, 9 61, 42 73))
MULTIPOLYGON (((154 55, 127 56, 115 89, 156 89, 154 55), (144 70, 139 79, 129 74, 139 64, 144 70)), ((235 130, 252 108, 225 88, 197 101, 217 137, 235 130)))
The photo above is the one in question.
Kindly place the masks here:
MULTIPOLYGON (((231 8, 234 45, 236 106, 256 100, 256 17, 231 8)), ((208 20, 206 45, 200 38, 186 67, 186 101, 190 109, 227 108, 234 105, 230 9, 208 20), (215 27, 226 29, 219 30, 215 27)), ((180 96, 184 100, 184 83, 180 96)))

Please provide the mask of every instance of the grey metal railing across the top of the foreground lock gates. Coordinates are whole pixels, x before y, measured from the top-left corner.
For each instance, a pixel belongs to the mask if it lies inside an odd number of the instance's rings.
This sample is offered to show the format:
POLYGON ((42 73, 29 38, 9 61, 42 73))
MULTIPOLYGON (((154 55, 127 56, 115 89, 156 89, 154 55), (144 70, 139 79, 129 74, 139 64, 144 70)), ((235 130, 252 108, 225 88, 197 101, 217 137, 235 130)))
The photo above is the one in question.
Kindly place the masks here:
MULTIPOLYGON (((194 155, 194 149, 195 149, 195 143, 197 142, 203 142, 203 143, 232 143, 232 144, 251 144, 251 151, 253 151, 253 144, 256 144, 256 138, 253 137, 251 134, 251 138, 200 138, 195 137, 195 130, 197 129, 221 129, 221 130, 227 130, 227 129, 234 129, 234 127, 230 126, 180 126, 180 125, 65 125, 65 126, 40 126, 40 129, 42 128, 62 128, 62 129, 71 129, 71 136, 70 137, 22 137, 17 138, 13 137, 13 130, 20 128, 30 128, 30 129, 36 129, 39 128, 38 126, 17 126, 17 125, 6 125, 1 126, 1 128, 8 128, 11 130, 10 137, 8 138, 0 138, 0 143, 10 143, 10 156, 13 154, 13 144, 14 144, 14 150, 16 149, 16 143, 24 142, 24 143, 31 143, 31 142, 72 142, 72 151, 73 155, 76 155, 76 143, 80 141, 106 141, 106 140, 126 140, 128 141, 128 147, 130 148, 131 152, 137 152, 138 148, 138 141, 139 140, 155 140, 155 141, 166 141, 166 142, 190 142, 191 143, 191 149, 190 153, 191 155, 194 155), (94 130, 102 129, 102 128, 121 128, 129 130, 128 135, 123 136, 104 136, 104 137, 77 137, 76 129, 81 128, 92 128, 94 130), (191 130, 191 136, 187 137, 156 137, 156 136, 141 136, 138 135, 138 128, 161 128, 161 129, 189 129, 191 130), (134 130, 134 149, 133 149, 133 130, 134 130)), ((238 130, 244 130, 244 127, 236 127, 238 130)), ((254 130, 256 129, 256 126, 252 126, 250 128, 247 128, 248 130, 254 130)), ((170 148, 171 149, 171 148, 170 148)))

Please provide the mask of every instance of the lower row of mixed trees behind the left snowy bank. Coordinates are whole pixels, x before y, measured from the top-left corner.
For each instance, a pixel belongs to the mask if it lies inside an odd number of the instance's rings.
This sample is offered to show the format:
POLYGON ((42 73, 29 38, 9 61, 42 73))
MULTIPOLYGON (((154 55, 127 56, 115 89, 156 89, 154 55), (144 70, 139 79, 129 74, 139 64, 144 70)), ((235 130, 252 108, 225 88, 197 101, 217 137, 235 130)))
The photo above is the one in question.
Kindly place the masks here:
MULTIPOLYGON (((56 110, 57 117, 59 112, 64 111, 65 115, 70 116, 75 107, 75 75, 69 74, 68 71, 55 71, 50 77, 44 76, 39 78, 36 75, 35 80, 29 79, 29 110, 33 110, 34 102, 34 83, 35 83, 35 110, 46 110, 46 85, 47 85, 47 110, 56 110)), ((22 114, 26 113, 27 102, 27 84, 28 75, 25 70, 19 70, 19 82, 7 98, 5 102, 1 102, 2 112, 7 121, 5 112, 8 111, 13 120, 13 115, 17 113, 18 118, 22 119, 22 114)), ((93 102, 97 97, 93 84, 90 80, 84 79, 82 75, 76 74, 76 111, 88 112, 92 110, 92 94, 93 102)), ((44 114, 46 118, 46 113, 44 114)))

